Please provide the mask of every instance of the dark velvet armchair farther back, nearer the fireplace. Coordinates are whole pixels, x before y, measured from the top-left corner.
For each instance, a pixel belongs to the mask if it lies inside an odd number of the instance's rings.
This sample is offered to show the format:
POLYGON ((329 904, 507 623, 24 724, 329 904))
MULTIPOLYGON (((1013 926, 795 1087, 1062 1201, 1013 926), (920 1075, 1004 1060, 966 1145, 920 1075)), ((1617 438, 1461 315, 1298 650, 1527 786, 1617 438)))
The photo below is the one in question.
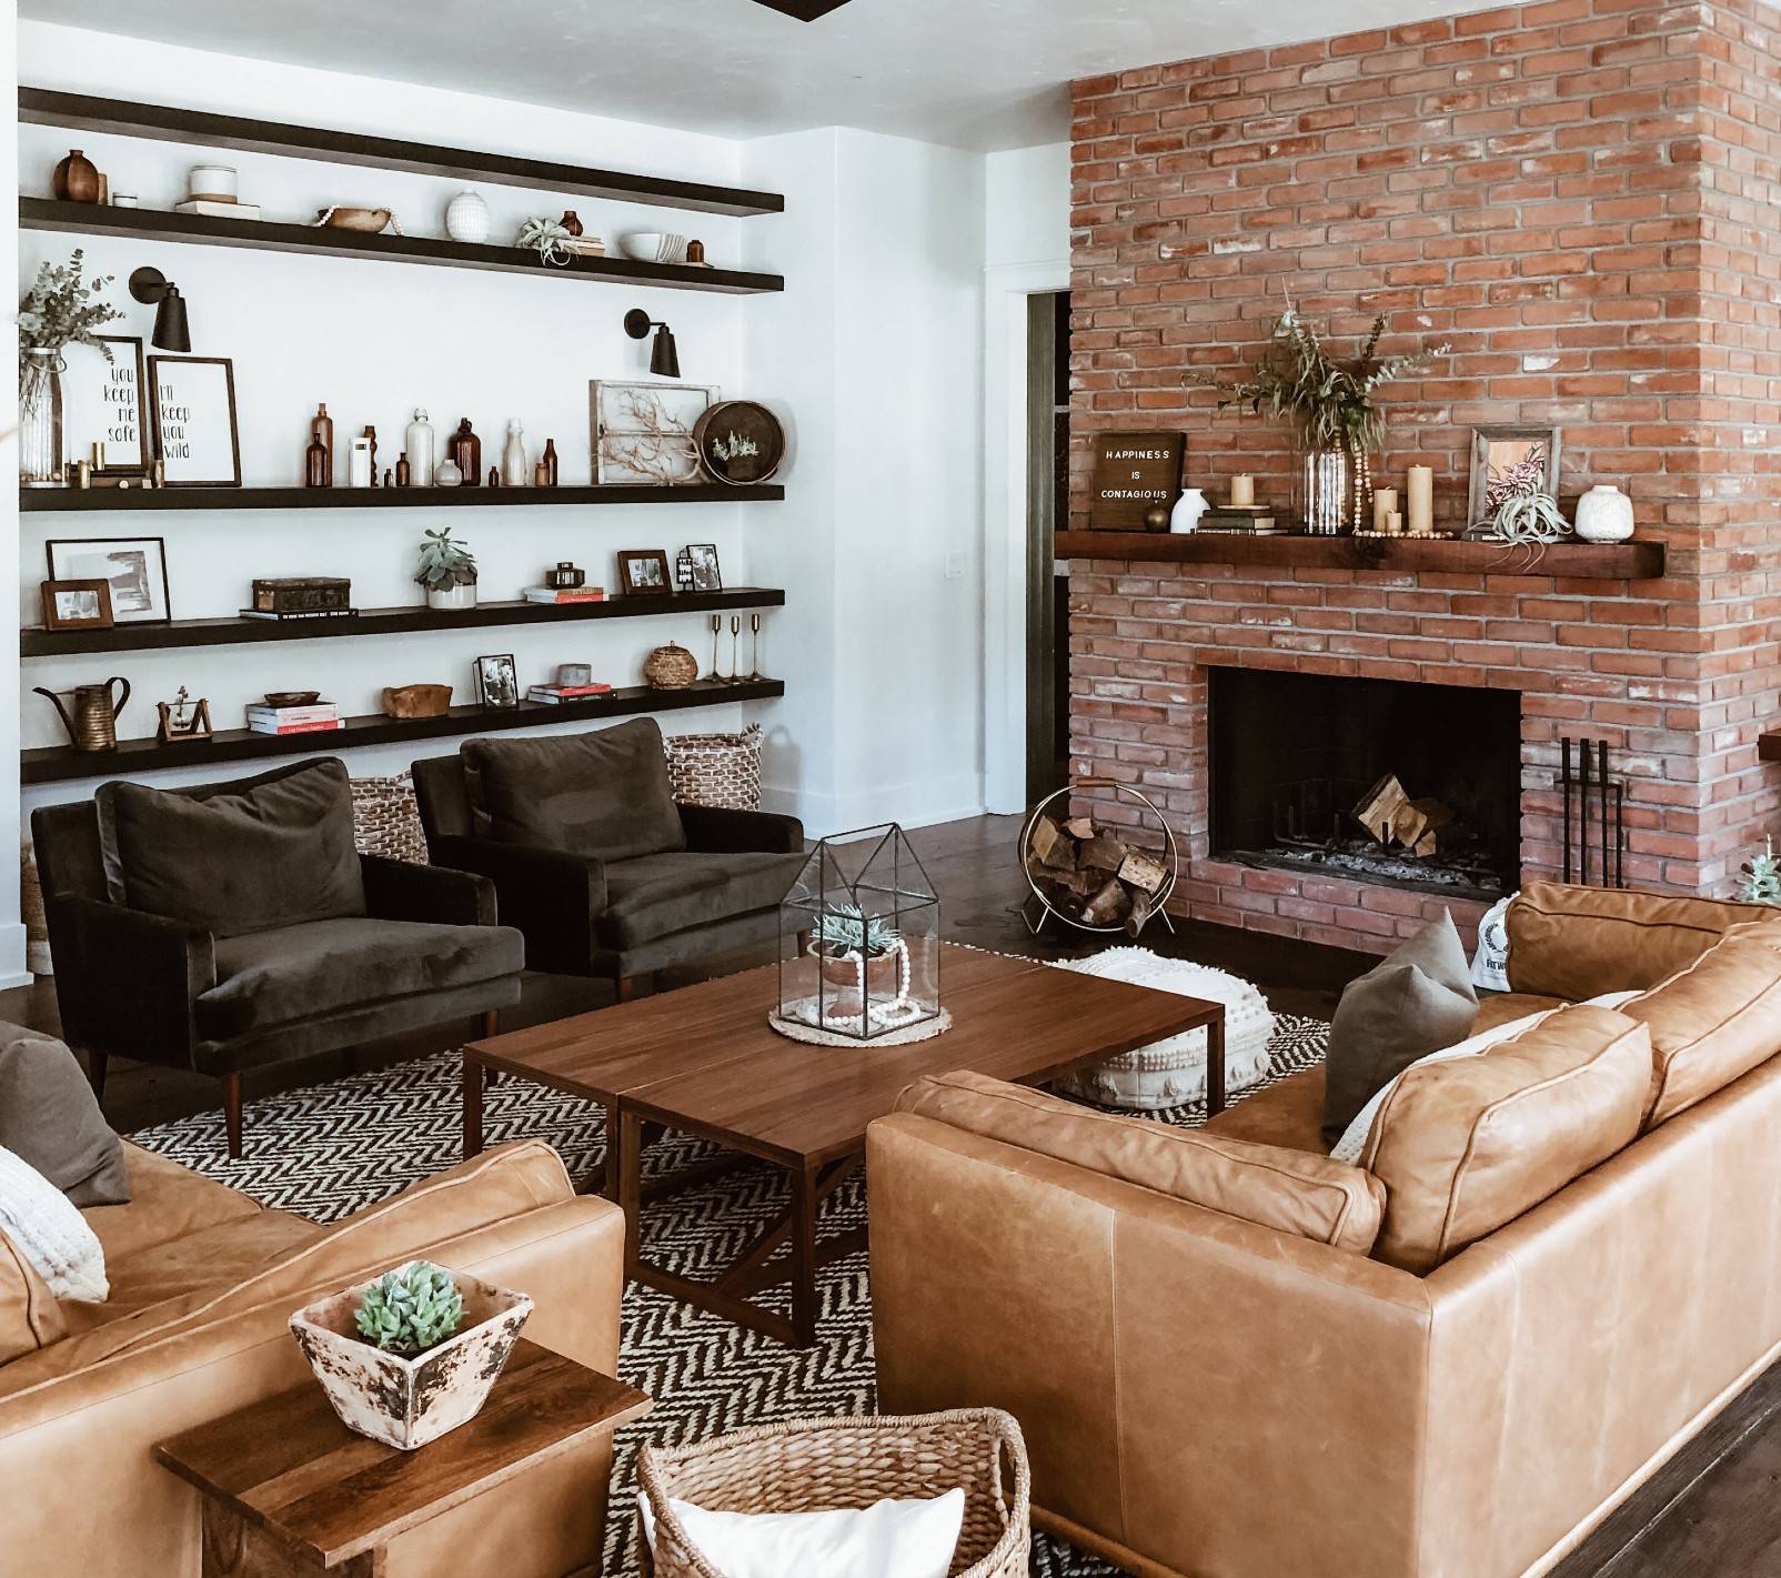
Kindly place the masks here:
POLYGON ((778 937, 803 864, 793 816, 677 805, 650 718, 476 739, 413 766, 435 866, 495 883, 531 969, 639 976, 778 937))

